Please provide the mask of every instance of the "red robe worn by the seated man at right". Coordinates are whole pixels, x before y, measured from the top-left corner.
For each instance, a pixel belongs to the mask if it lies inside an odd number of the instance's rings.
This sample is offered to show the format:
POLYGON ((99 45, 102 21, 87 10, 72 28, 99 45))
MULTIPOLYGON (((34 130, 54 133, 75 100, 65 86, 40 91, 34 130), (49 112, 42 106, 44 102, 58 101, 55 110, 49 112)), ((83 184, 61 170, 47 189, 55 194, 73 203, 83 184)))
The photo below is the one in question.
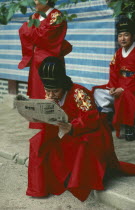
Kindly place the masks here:
POLYGON ((114 101, 113 124, 117 131, 120 125, 134 125, 135 120, 135 74, 130 77, 121 75, 120 70, 135 72, 135 47, 127 57, 122 56, 122 48, 118 49, 110 63, 110 79, 107 85, 95 88, 123 88, 122 94, 114 101))

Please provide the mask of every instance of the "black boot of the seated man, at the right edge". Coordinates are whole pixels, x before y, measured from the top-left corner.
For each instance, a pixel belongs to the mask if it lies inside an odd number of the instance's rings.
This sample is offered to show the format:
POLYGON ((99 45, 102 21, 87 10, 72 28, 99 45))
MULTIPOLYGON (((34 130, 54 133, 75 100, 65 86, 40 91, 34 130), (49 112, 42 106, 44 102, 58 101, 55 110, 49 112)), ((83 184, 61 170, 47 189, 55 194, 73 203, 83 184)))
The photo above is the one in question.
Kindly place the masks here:
POLYGON ((135 130, 132 126, 125 126, 125 139, 126 141, 134 141, 135 140, 135 130))

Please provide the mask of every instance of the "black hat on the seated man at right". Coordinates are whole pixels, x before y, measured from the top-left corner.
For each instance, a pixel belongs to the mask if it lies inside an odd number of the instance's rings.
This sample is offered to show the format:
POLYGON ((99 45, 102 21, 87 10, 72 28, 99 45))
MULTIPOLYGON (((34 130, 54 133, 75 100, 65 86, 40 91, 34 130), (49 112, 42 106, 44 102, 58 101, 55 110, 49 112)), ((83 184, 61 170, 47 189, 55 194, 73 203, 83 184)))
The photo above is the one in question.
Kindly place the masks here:
POLYGON ((129 32, 131 34, 135 33, 135 23, 125 16, 120 17, 118 23, 116 24, 117 33, 129 32))

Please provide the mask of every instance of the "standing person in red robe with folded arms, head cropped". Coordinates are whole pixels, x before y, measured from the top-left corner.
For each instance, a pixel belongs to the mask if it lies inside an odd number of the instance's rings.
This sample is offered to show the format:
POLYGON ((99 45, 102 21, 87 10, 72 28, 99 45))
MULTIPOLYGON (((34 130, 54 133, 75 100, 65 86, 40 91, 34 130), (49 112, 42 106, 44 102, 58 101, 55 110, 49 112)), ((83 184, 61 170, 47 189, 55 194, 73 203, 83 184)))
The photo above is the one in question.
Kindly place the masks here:
MULTIPOLYGON (((19 29, 22 45, 22 61, 18 68, 23 69, 30 66, 28 77, 28 96, 30 98, 44 98, 44 86, 38 75, 38 68, 46 57, 56 56, 63 60, 64 56, 72 51, 72 46, 65 39, 67 32, 67 22, 57 23, 57 19, 62 17, 62 13, 53 8, 54 1, 48 0, 46 4, 41 4, 34 0, 36 10, 46 14, 43 18, 39 13, 35 13, 32 18, 40 20, 40 26, 28 27, 25 22, 19 29)), ((42 128, 41 123, 30 123, 30 128, 42 128)))

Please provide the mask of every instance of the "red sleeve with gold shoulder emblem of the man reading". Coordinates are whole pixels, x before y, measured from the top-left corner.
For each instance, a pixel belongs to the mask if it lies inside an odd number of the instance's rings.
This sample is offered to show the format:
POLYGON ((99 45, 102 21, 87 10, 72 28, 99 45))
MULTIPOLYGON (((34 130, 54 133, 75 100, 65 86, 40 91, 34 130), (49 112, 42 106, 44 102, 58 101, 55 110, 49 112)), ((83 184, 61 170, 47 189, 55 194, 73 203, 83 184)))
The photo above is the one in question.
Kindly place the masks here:
POLYGON ((79 136, 91 133, 99 127, 99 113, 95 107, 93 97, 85 89, 77 89, 74 94, 76 109, 78 109, 77 118, 71 121, 73 136, 79 136))

